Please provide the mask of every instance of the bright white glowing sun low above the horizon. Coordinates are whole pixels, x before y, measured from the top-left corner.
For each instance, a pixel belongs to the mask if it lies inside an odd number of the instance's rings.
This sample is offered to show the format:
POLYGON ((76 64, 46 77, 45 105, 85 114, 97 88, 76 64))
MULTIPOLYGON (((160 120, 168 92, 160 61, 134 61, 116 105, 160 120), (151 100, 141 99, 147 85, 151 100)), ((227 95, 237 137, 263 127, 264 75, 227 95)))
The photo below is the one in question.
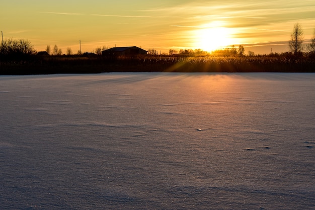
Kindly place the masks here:
POLYGON ((232 32, 229 28, 211 27, 194 31, 195 47, 211 52, 232 44, 232 32))

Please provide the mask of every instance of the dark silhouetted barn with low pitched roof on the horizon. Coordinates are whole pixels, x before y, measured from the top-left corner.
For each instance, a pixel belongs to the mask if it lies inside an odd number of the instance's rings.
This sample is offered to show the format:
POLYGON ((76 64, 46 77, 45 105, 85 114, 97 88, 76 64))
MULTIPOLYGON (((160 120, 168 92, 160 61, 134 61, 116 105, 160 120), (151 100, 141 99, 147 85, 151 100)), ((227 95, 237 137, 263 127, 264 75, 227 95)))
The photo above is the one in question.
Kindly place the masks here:
POLYGON ((146 50, 139 47, 113 47, 102 51, 104 56, 133 56, 133 55, 145 55, 146 50))

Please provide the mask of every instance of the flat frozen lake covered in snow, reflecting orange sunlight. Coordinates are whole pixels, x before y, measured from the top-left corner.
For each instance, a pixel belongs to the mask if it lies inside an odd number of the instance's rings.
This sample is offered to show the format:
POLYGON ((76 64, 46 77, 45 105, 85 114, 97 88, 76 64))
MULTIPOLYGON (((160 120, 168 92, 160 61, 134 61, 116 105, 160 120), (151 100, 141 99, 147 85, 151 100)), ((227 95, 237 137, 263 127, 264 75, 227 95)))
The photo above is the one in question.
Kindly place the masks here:
POLYGON ((315 209, 315 74, 0 76, 0 209, 315 209))

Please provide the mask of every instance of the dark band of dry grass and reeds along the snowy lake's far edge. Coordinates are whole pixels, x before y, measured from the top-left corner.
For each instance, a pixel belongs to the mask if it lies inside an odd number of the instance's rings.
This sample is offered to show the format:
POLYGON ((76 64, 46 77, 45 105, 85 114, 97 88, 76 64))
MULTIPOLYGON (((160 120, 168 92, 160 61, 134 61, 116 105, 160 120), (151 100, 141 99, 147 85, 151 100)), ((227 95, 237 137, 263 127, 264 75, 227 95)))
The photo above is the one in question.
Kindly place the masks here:
POLYGON ((315 72, 315 59, 292 56, 47 56, 0 61, 0 74, 101 72, 315 72))

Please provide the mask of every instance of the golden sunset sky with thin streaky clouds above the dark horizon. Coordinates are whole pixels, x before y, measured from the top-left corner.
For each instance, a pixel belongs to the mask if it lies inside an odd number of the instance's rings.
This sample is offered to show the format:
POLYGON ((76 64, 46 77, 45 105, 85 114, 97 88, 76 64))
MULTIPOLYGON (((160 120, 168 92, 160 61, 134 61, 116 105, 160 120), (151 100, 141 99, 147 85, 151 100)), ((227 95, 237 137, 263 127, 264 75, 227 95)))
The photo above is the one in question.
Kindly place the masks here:
POLYGON ((4 39, 27 39, 37 51, 138 46, 212 51, 245 46, 256 54, 288 51, 294 24, 304 42, 315 29, 315 1, 0 0, 4 39))

